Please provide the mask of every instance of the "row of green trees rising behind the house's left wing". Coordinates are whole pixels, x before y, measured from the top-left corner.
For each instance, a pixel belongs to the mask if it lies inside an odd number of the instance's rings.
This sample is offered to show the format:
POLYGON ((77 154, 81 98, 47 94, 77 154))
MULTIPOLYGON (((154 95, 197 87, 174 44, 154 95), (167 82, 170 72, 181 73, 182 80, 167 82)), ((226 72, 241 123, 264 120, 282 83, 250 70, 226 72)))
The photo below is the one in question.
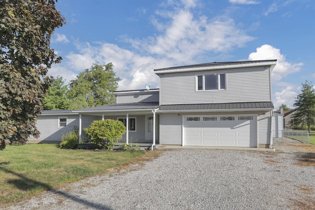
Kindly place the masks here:
POLYGON ((53 79, 44 98, 44 110, 74 110, 115 103, 113 91, 118 88, 119 77, 113 64, 94 63, 67 85, 63 77, 53 79))

